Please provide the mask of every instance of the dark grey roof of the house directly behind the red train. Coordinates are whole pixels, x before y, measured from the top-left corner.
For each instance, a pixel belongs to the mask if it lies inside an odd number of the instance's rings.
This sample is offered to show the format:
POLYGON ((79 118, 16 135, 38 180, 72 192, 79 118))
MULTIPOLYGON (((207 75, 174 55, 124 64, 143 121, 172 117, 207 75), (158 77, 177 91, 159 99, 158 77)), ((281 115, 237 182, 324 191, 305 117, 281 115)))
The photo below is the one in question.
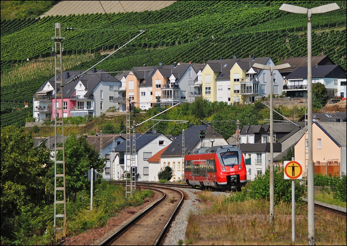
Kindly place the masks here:
MULTIPOLYGON (((191 151, 197 143, 201 141, 199 138, 199 132, 201 130, 205 131, 205 137, 218 137, 223 136, 217 133, 209 125, 191 126, 184 131, 184 146, 185 153, 187 154, 191 151)), ((176 139, 170 144, 170 146, 160 155, 160 156, 178 156, 182 155, 182 134, 177 136, 176 139)))

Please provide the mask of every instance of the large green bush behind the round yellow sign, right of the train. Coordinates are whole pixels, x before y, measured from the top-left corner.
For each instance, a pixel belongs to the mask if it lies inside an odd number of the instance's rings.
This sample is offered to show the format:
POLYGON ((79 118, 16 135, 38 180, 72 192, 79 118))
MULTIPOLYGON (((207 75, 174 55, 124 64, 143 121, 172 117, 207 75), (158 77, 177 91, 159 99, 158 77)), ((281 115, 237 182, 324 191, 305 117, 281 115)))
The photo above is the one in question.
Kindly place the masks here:
MULTIPOLYGON (((305 193, 305 187, 295 180, 295 201, 300 201, 305 193)), ((242 192, 235 196, 229 196, 225 202, 244 201, 247 199, 265 199, 270 198, 270 170, 266 169, 263 175, 257 175, 254 181, 247 183, 242 192)), ((291 202, 291 181, 284 179, 283 168, 274 168, 274 202, 291 202)))

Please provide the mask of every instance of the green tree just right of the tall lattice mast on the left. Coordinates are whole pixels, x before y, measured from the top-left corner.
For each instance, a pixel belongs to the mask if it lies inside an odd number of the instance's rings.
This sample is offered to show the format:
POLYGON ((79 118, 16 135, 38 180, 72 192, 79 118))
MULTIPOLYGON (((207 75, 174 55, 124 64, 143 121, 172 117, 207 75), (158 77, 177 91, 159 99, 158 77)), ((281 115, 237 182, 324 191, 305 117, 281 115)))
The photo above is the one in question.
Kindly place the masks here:
MULTIPOLYGON (((57 160, 62 160, 62 151, 58 151, 57 160)), ((99 157, 94 146, 89 145, 86 138, 77 138, 76 134, 72 133, 65 140, 66 196, 69 199, 75 198, 77 192, 89 190, 88 169, 95 169, 100 179, 105 166, 105 159, 99 157)), ((59 172, 62 173, 62 169, 57 171, 59 172)))

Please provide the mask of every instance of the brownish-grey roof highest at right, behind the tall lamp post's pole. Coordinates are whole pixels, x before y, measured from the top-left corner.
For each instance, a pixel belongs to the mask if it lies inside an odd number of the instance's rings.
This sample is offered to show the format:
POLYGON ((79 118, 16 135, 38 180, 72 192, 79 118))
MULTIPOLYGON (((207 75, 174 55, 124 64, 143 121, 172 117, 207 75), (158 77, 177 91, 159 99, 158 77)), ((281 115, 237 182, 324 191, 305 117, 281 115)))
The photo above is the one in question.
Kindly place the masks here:
MULTIPOLYGON (((303 57, 287 57, 287 58, 283 59, 283 61, 280 64, 285 64, 285 63, 289 63, 289 65, 291 67, 290 68, 280 69, 279 70, 280 73, 283 73, 283 72, 286 72, 286 73, 293 72, 296 69, 298 69, 299 67, 305 67, 305 66, 307 67, 307 57, 306 56, 303 56, 303 57), (292 68, 292 67, 294 67, 294 68, 292 68)), ((318 64, 319 66, 335 65, 335 63, 328 56, 312 56, 312 66, 315 66, 316 64, 318 64)))

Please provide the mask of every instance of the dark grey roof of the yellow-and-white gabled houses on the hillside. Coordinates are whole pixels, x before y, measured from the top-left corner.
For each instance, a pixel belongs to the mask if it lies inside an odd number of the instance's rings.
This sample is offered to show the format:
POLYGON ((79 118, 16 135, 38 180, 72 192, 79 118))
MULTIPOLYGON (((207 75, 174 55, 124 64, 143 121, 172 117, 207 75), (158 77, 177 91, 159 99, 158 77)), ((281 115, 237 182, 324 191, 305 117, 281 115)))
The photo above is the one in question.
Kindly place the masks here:
MULTIPOLYGON (((254 63, 260 63, 265 65, 265 63, 270 59, 270 57, 256 57, 253 58, 240 58, 240 59, 225 59, 225 60, 209 60, 207 64, 211 67, 214 72, 220 72, 216 80, 226 80, 230 79, 230 69, 237 62, 238 65, 243 70, 248 70, 253 66, 254 63), (227 64, 227 65, 226 65, 227 64), (226 65, 226 67, 224 67, 226 65), (222 74, 225 74, 223 77, 220 77, 222 74)), ((255 71, 258 71, 255 68, 255 71)))

